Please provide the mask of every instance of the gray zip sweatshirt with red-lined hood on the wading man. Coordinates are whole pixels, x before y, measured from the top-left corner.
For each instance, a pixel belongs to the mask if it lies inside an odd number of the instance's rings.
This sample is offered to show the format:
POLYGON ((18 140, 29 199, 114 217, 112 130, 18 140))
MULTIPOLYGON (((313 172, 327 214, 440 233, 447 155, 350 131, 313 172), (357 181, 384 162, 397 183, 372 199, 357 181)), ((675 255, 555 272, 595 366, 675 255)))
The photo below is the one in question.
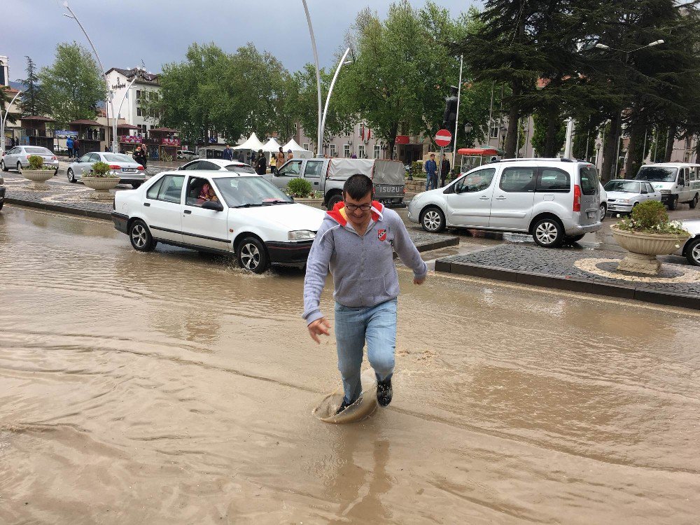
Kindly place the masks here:
POLYGON ((328 276, 333 274, 333 298, 345 307, 367 308, 398 297, 398 274, 393 252, 414 276, 423 278, 428 266, 409 237, 398 214, 372 201, 372 219, 365 235, 348 223, 339 202, 323 218, 316 233, 304 278, 304 319, 307 324, 323 317, 318 303, 328 276))

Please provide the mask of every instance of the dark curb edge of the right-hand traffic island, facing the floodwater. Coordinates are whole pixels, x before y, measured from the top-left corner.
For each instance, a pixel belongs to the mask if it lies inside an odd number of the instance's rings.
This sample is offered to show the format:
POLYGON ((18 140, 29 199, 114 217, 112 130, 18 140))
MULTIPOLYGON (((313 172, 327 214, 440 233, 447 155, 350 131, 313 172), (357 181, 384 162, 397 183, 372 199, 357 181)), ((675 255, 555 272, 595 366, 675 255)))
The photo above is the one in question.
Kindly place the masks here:
POLYGON ((633 299, 654 304, 664 304, 700 310, 700 296, 680 293, 659 292, 646 288, 638 288, 633 285, 596 283, 584 279, 573 277, 560 277, 549 274, 537 274, 533 272, 519 272, 507 268, 468 264, 465 262, 451 262, 445 260, 435 261, 436 272, 446 272, 458 275, 469 275, 483 277, 485 279, 496 279, 509 283, 531 284, 542 288, 556 288, 557 290, 567 290, 570 292, 592 293, 594 295, 604 295, 606 297, 619 297, 623 299, 633 299))

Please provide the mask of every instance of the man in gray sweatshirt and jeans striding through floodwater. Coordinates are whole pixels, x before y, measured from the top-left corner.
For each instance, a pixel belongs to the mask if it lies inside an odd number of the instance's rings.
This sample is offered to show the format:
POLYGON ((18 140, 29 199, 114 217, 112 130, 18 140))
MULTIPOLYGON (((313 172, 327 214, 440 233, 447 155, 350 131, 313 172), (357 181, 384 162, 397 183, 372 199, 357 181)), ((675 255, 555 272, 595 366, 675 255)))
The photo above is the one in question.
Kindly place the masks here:
POLYGON ((351 176, 343 200, 323 219, 311 246, 304 279, 304 319, 317 343, 328 335, 330 323, 318 307, 328 270, 335 287, 335 339, 344 398, 337 413, 362 393, 360 365, 367 358, 377 376, 377 402, 391 402, 391 374, 396 344, 398 274, 393 251, 413 270, 414 284, 426 279, 428 267, 398 214, 373 201, 372 180, 351 176))

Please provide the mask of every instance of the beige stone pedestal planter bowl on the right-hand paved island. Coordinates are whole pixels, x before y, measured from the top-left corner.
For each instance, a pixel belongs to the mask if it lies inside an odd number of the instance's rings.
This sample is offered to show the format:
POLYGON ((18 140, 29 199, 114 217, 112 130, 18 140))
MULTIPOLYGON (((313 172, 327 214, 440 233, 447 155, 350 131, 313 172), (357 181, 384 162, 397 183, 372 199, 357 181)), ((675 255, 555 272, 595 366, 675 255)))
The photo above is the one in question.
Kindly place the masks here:
POLYGON ((661 233, 640 233, 610 228, 617 244, 629 253, 617 265, 623 272, 656 275, 661 262, 657 255, 668 255, 685 244, 687 235, 667 235, 661 233))

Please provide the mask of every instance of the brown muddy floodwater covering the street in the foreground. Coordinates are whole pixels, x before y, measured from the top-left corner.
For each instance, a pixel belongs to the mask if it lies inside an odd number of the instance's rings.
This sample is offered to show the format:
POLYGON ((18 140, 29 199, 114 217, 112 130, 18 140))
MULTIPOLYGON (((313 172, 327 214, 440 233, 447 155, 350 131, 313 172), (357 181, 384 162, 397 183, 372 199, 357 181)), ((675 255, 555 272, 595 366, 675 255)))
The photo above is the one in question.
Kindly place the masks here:
POLYGON ((399 274, 393 402, 330 425, 299 270, 6 207, 0 523, 698 522, 699 316, 399 274))

